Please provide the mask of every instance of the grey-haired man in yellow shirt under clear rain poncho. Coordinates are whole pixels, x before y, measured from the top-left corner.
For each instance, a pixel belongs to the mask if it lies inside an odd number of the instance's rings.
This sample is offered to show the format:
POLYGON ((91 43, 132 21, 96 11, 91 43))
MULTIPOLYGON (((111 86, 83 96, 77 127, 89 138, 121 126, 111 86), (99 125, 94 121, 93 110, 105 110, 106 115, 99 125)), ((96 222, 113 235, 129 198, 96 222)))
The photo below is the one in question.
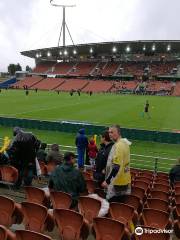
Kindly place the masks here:
POLYGON ((121 137, 118 125, 109 128, 109 136, 114 141, 114 145, 108 157, 105 181, 102 186, 107 188, 106 198, 110 202, 124 202, 131 192, 129 149, 131 143, 121 137))

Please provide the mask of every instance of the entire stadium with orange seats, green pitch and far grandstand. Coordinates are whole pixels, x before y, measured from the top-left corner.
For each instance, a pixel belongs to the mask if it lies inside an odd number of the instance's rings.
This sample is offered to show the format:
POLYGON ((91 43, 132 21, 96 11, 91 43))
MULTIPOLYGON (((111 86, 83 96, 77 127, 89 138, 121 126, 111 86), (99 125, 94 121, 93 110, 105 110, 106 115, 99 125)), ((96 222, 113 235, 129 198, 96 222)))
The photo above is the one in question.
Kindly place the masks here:
POLYGON ((35 67, 0 82, 0 240, 180 239, 180 182, 169 178, 179 158, 180 41, 74 44, 65 20, 69 6, 61 7, 58 46, 21 51, 35 67), (76 208, 70 194, 48 189, 56 164, 39 161, 32 186, 16 189, 20 172, 3 163, 14 127, 46 142, 47 153, 56 143, 78 158, 79 129, 99 149, 112 125, 132 143, 131 194, 123 203, 108 203, 87 159, 87 192, 76 208), (101 215, 103 204, 109 205, 101 215))

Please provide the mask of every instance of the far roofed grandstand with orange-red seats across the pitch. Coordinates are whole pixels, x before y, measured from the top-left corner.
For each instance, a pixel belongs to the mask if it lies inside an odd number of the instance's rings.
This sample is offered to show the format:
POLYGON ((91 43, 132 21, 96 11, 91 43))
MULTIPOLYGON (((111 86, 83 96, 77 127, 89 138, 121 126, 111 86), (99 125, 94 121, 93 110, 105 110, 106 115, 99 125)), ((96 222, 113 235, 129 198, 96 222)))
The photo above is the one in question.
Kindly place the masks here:
POLYGON ((179 49, 180 41, 132 41, 25 51, 36 67, 11 87, 180 96, 179 49))

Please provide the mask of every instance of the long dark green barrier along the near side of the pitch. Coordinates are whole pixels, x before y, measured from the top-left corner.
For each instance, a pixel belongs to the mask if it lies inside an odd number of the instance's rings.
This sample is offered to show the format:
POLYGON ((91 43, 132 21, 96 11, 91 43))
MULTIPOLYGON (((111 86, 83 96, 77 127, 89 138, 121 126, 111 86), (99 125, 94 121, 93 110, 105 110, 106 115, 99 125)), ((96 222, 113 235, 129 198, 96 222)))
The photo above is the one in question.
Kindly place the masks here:
MULTIPOLYGON (((80 128, 85 128, 86 134, 101 134, 108 126, 94 125, 70 121, 45 121, 36 119, 21 119, 0 117, 0 125, 6 127, 19 126, 22 128, 76 133, 80 128)), ((180 133, 150 131, 143 129, 121 128, 122 136, 132 140, 150 141, 159 143, 180 143, 180 133)))

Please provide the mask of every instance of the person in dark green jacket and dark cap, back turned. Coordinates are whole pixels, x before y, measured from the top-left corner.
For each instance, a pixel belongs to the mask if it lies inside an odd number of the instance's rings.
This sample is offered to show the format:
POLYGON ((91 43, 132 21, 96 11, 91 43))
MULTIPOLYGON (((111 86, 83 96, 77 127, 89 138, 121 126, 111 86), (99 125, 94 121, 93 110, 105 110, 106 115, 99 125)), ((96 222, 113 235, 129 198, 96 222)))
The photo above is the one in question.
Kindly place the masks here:
POLYGON ((86 192, 86 182, 82 173, 74 167, 75 154, 67 152, 64 154, 64 163, 52 172, 49 180, 49 189, 63 191, 71 194, 72 207, 78 203, 81 193, 86 192))

